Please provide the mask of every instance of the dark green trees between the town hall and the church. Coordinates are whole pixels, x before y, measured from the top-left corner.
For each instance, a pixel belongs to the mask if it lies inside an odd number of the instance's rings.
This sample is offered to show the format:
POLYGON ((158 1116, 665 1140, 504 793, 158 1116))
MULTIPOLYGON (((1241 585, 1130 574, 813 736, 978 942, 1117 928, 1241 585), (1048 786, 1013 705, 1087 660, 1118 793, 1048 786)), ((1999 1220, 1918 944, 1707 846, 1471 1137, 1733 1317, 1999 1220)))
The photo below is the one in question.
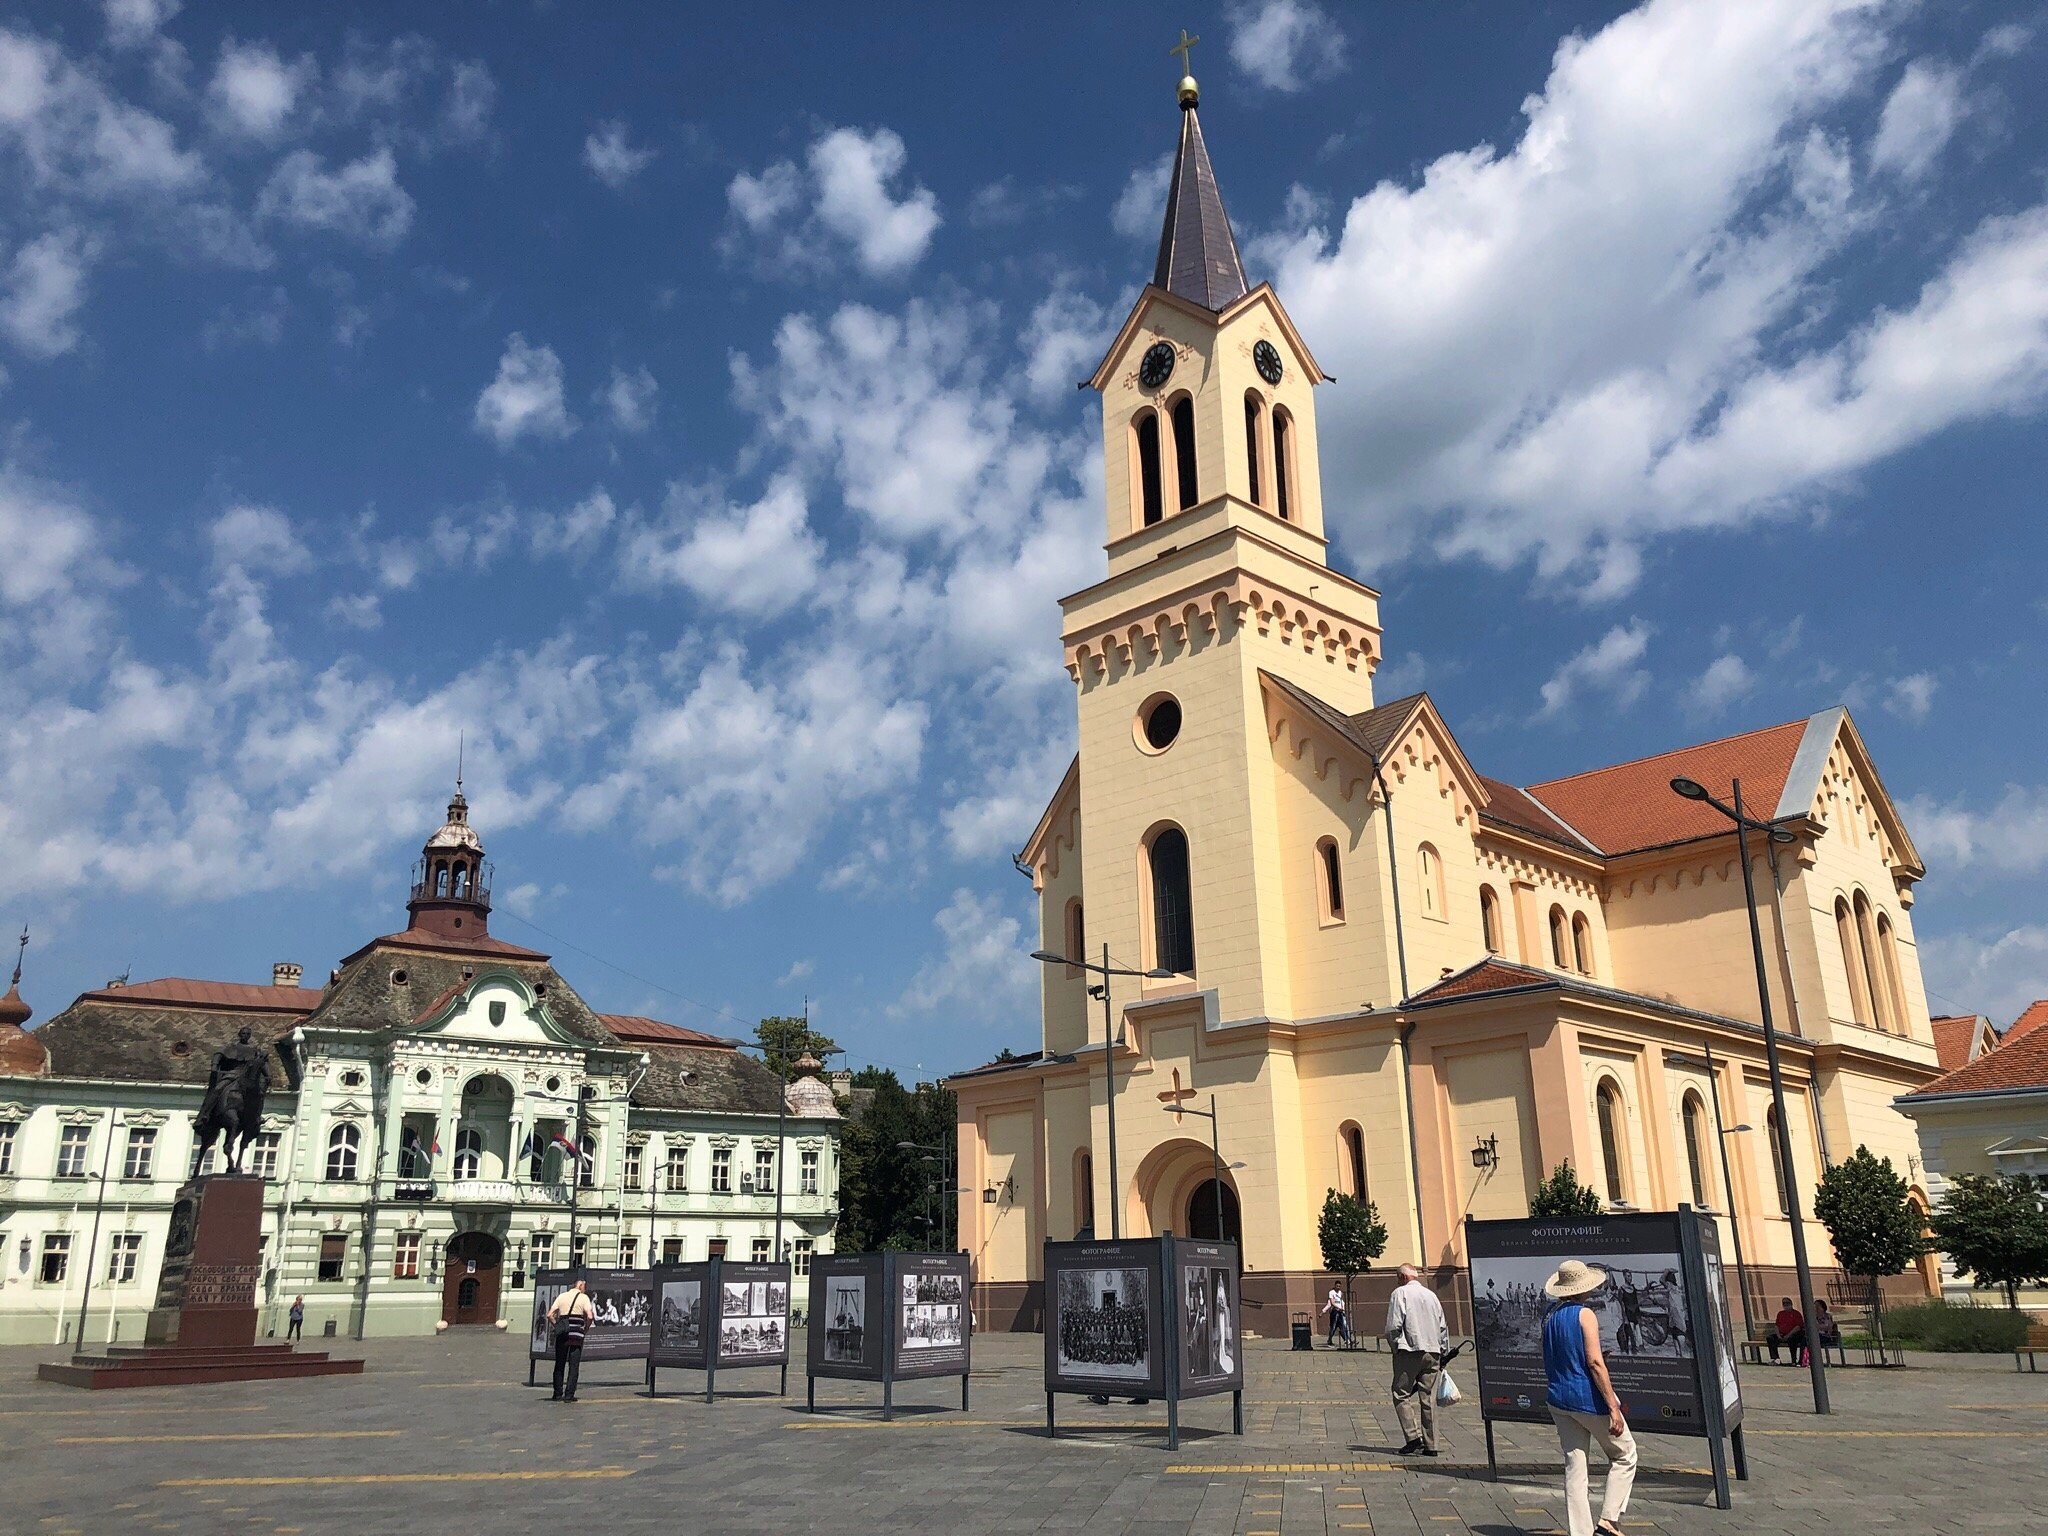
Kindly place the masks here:
POLYGON ((952 1208, 946 1194, 948 1161, 924 1161, 932 1153, 901 1143, 946 1149, 954 1139, 954 1098, 948 1087, 920 1083, 903 1087, 887 1069, 866 1069, 856 1077, 864 1102, 840 1130, 840 1231, 842 1253, 872 1253, 883 1247, 928 1249, 952 1241, 952 1208))

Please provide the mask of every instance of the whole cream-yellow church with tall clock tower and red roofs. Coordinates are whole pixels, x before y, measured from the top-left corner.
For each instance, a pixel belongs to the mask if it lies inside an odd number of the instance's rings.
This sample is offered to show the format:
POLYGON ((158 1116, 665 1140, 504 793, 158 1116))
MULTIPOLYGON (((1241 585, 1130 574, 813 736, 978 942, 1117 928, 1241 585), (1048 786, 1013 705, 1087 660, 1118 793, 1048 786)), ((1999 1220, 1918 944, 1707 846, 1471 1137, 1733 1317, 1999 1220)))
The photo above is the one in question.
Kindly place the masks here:
POLYGON ((1802 1206, 1860 1143, 1919 1184, 1892 1100, 1937 1071, 1925 870, 1855 723, 1513 786, 1427 694, 1376 700, 1378 594, 1323 535, 1331 381, 1247 285, 1192 82, 1182 106, 1153 283, 1087 381, 1108 571, 1061 604, 1079 752, 1018 856, 1042 950, 1165 975, 1112 977, 1106 1026, 1100 977, 1049 965, 1038 1049, 952 1079, 981 1325, 1038 1325, 1049 1239, 1221 1225, 1247 1327, 1280 1331, 1327 1280, 1331 1188, 1378 1206, 1384 1266, 1452 1284, 1464 1217, 1526 1214, 1561 1161, 1616 1206, 1714 1208, 1776 1305, 1792 1212, 1739 856, 1669 780, 1739 778, 1794 836, 1751 854, 1802 1206))

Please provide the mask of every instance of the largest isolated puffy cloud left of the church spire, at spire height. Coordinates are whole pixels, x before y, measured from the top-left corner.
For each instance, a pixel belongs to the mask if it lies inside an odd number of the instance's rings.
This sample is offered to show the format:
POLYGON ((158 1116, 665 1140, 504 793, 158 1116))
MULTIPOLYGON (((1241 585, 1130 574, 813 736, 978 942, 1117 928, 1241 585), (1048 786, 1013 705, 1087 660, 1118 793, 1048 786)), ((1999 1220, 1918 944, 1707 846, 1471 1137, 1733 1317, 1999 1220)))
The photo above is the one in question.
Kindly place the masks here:
POLYGON ((782 160, 760 176, 741 172, 725 188, 733 217, 754 236, 776 236, 772 260, 797 272, 829 264, 825 244, 848 248, 868 276, 899 276, 932 248, 938 199, 926 186, 897 193, 909 164, 891 129, 829 129, 803 170, 782 160), (793 215, 803 211, 801 219, 793 215), (791 225, 791 227, 782 227, 791 225))

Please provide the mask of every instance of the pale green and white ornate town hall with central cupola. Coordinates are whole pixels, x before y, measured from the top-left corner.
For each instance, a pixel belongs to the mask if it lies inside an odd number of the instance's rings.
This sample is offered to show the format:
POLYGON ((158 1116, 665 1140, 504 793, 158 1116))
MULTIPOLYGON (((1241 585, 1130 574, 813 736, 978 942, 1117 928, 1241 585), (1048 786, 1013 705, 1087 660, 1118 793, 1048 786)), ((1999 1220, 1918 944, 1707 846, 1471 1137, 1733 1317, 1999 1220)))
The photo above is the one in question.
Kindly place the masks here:
MULTIPOLYGON (((408 924, 326 987, 164 979, 41 1028, 0 1004, 0 1341, 137 1341, 193 1116, 248 1026, 272 1085, 244 1167, 268 1180, 266 1329, 524 1325, 535 1270, 831 1249, 838 1100, 713 1034, 594 1012, 489 932, 492 870, 457 791, 408 924), (580 1151, 569 1151, 580 1143, 580 1151), (92 1296, 84 1296, 86 1276, 92 1296)), ((215 1153, 215 1159, 219 1153, 215 1153)))

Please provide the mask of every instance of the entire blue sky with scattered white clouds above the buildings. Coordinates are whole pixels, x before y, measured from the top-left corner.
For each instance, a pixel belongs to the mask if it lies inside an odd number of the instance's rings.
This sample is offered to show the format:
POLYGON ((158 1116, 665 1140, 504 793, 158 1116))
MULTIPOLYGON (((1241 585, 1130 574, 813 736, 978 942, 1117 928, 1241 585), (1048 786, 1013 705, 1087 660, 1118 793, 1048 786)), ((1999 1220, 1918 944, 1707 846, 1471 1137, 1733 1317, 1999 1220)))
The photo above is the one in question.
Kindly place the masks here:
POLYGON ((1151 270, 1180 27, 1337 379, 1382 696, 1518 782, 1847 702, 1935 1008, 2048 991, 2032 6, 399 14, 0 23, 0 920, 45 1016, 401 926, 467 733, 494 930, 600 1008, 809 995, 926 1073, 1034 1040, 1073 381, 1151 270))

